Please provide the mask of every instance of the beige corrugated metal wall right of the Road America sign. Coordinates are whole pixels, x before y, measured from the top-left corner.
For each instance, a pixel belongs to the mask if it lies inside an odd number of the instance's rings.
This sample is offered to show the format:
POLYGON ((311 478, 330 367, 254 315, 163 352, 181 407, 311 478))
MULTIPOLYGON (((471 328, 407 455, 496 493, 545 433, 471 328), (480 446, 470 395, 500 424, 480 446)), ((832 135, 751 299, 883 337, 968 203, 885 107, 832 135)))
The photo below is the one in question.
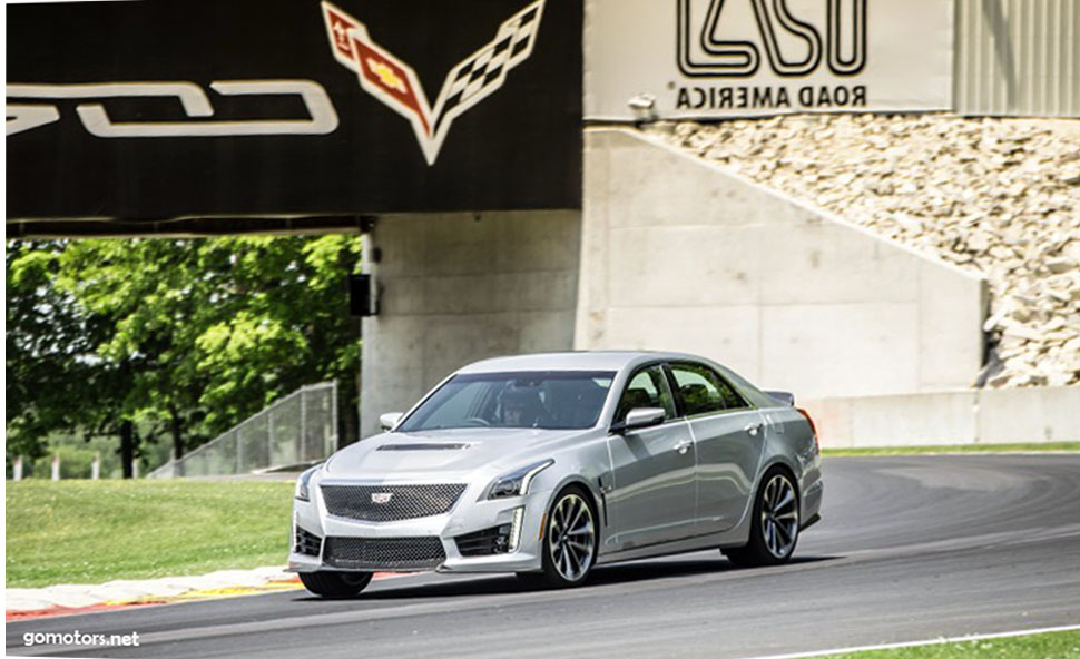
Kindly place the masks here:
POLYGON ((962 115, 1080 117, 1080 0, 956 0, 962 115))

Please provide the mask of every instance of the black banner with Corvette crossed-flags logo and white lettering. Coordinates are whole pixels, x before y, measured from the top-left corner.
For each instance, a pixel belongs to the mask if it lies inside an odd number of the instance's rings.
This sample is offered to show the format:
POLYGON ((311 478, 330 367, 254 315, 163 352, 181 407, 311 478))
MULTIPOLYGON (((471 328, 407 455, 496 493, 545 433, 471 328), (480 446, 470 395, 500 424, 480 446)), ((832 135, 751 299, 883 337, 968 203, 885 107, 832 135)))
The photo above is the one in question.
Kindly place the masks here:
POLYGON ((581 0, 7 11, 9 220, 580 207, 581 0))

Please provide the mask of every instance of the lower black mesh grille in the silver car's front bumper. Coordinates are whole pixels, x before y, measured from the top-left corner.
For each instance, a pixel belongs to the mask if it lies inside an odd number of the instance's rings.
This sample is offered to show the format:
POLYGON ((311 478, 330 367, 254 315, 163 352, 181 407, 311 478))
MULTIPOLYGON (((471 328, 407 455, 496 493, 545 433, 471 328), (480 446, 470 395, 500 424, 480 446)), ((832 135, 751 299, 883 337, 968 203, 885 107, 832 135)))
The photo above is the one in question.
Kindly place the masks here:
POLYGON ((335 568, 430 570, 446 553, 434 535, 416 538, 327 538, 323 562, 335 568))

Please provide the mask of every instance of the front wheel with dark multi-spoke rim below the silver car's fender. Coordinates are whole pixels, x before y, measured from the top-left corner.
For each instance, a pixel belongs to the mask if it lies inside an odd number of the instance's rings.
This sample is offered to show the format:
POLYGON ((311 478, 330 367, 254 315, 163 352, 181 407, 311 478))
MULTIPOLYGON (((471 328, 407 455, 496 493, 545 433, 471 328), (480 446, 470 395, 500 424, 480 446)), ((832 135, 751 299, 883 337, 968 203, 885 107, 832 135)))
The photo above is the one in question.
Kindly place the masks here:
POLYGON ((541 572, 518 572, 533 588, 570 588, 589 578, 599 548, 599 527, 592 498, 571 485, 552 500, 540 543, 541 572))

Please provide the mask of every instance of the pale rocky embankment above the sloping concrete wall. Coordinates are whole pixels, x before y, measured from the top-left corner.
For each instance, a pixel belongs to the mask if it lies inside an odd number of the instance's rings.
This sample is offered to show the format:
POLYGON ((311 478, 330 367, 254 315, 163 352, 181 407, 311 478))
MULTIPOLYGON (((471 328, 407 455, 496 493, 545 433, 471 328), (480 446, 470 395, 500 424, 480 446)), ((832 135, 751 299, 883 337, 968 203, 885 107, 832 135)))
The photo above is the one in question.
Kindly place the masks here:
POLYGON ((803 115, 645 130, 985 276, 993 352, 973 384, 1080 383, 1080 121, 803 115))

